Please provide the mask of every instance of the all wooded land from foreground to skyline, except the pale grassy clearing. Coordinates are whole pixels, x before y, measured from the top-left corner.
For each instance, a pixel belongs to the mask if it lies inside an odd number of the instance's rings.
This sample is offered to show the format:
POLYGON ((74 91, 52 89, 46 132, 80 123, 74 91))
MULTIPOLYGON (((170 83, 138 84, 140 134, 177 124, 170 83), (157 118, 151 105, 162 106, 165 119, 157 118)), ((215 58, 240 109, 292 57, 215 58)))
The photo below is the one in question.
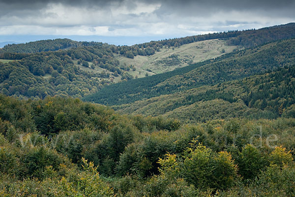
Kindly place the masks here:
POLYGON ((8 44, 0 93, 1 197, 295 196, 294 23, 8 44), (124 62, 211 39, 236 48, 140 77, 124 62))

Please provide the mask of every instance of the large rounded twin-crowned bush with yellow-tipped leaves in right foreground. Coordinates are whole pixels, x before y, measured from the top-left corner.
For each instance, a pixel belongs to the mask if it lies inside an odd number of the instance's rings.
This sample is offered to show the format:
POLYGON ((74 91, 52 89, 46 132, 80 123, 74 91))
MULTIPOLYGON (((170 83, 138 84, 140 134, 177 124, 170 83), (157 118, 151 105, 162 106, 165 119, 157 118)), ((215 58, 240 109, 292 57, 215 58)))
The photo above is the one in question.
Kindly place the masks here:
POLYGON ((211 153, 205 146, 189 148, 183 163, 183 177, 198 188, 229 188, 236 178, 236 165, 231 154, 211 153))

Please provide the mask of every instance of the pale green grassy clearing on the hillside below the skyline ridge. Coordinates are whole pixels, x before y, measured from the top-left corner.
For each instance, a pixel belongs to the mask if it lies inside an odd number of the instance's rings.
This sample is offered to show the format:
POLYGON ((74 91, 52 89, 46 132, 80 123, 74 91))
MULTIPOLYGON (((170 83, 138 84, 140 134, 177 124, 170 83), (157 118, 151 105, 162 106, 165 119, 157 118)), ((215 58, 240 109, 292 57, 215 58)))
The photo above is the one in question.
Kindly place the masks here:
POLYGON ((230 53, 236 46, 226 45, 225 40, 213 39, 185 44, 179 48, 162 48, 152 56, 136 56, 134 59, 117 56, 121 64, 134 65, 141 72, 138 77, 163 73, 177 67, 216 58, 224 53, 230 53), (151 70, 152 72, 148 71, 151 70))

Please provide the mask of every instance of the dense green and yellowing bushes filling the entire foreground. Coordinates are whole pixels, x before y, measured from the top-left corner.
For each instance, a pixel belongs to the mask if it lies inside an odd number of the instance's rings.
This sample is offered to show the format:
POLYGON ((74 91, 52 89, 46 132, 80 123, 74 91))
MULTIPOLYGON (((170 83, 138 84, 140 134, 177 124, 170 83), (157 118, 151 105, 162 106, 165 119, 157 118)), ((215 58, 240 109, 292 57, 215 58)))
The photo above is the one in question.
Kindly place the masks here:
POLYGON ((0 96, 0 194, 291 197, 294 131, 293 118, 183 125, 79 99, 0 96))

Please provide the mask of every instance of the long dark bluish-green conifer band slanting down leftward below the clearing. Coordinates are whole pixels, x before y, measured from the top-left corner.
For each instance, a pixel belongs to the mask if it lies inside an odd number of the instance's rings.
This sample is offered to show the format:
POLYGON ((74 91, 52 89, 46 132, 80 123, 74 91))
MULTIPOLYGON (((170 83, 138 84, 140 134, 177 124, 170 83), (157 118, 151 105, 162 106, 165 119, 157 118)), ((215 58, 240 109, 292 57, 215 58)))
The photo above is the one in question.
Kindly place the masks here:
POLYGON ((85 100, 106 105, 132 103, 290 66, 294 63, 294 59, 295 39, 276 41, 172 72, 112 84, 85 97, 85 100))

